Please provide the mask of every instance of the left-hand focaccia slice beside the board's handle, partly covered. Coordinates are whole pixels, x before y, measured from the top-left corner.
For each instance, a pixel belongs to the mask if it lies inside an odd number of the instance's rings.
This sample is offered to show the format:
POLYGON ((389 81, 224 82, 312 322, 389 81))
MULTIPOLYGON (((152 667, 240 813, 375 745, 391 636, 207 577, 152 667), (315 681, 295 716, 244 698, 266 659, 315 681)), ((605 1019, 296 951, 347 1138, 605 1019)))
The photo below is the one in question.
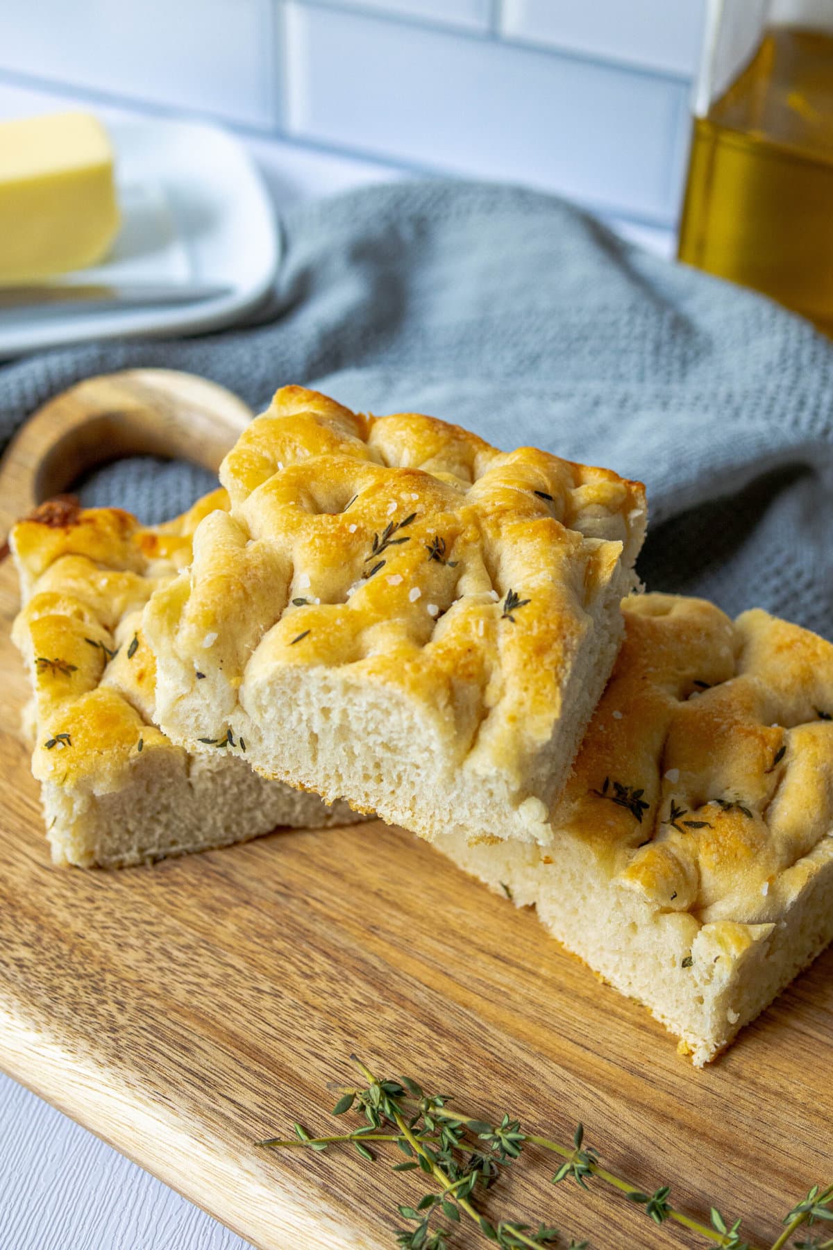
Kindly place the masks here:
POLYGON ((11 531, 24 605, 14 639, 32 682, 32 771, 56 864, 122 868, 278 825, 356 820, 343 802, 257 776, 237 741, 194 756, 154 724, 141 611, 191 559, 197 522, 224 506, 219 490, 145 529, 116 508, 52 502, 11 531))

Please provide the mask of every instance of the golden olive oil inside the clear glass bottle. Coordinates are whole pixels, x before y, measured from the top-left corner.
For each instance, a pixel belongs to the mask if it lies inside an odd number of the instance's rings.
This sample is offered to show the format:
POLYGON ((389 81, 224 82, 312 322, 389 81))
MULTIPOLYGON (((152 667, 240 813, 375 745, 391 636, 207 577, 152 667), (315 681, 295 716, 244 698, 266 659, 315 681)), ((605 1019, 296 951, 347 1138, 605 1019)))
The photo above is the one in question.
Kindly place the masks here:
POLYGON ((679 259, 833 335, 833 35, 772 28, 694 119, 679 259))

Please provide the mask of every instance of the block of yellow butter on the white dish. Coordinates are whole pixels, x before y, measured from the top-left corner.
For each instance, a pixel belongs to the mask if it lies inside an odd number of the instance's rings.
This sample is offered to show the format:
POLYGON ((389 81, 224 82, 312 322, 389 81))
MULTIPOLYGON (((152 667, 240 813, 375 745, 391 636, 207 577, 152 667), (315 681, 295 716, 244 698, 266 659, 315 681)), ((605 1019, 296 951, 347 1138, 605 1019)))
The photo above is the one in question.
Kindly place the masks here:
POLYGON ((96 118, 0 122, 0 285, 92 265, 117 230, 112 148, 96 118))

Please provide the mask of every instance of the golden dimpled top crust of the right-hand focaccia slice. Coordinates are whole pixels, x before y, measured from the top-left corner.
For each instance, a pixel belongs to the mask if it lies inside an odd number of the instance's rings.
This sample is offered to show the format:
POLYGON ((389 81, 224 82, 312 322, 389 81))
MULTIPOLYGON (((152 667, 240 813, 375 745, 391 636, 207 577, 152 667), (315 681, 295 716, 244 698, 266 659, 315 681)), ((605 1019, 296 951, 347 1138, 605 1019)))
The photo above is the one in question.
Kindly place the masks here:
POLYGON ((761 609, 732 622, 657 594, 623 608, 553 824, 652 906, 703 924, 778 918, 789 870, 833 831, 833 645, 761 609))

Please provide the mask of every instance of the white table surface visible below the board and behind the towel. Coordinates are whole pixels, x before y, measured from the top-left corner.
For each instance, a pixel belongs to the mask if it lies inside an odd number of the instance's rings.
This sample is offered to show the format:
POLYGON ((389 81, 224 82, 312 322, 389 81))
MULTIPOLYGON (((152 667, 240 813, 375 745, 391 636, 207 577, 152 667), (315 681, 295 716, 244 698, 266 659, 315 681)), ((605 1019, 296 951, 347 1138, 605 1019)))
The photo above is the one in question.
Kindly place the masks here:
MULTIPOLYGON (((60 109, 76 99, 0 84, 0 119, 60 109)), ((130 116, 100 109, 105 118, 130 116)), ((276 205, 402 178, 277 140, 247 138, 276 205)), ((656 251, 667 232, 621 226, 656 251)), ((217 1224, 136 1164, 0 1074, 0 1248, 2 1250, 247 1250, 217 1224)))

